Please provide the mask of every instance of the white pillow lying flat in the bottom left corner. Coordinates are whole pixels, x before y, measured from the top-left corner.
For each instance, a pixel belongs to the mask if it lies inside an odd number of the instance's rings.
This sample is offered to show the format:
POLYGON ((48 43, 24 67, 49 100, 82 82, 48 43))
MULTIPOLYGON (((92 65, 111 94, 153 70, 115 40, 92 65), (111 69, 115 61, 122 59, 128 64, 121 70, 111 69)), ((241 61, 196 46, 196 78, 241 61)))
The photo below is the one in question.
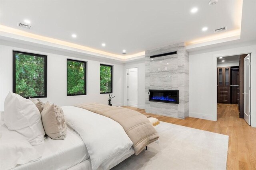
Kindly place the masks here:
POLYGON ((26 138, 16 131, 8 130, 4 122, 0 122, 0 170, 9 170, 40 158, 26 138))

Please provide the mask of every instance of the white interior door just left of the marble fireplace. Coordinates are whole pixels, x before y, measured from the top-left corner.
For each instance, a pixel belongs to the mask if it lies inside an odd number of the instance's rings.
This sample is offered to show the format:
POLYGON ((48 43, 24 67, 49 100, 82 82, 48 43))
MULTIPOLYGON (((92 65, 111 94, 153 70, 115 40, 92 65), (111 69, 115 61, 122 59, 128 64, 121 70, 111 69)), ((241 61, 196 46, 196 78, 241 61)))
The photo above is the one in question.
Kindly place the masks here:
POLYGON ((128 69, 128 106, 138 105, 138 68, 128 69))

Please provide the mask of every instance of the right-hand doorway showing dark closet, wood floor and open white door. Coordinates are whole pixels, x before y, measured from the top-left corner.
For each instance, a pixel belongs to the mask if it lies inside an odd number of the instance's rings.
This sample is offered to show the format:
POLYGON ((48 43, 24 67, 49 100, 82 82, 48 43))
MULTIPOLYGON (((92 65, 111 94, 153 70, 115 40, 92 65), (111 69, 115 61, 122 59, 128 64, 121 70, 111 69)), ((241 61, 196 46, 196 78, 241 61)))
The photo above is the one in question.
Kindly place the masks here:
POLYGON ((217 58, 217 116, 250 125, 250 54, 217 58))

